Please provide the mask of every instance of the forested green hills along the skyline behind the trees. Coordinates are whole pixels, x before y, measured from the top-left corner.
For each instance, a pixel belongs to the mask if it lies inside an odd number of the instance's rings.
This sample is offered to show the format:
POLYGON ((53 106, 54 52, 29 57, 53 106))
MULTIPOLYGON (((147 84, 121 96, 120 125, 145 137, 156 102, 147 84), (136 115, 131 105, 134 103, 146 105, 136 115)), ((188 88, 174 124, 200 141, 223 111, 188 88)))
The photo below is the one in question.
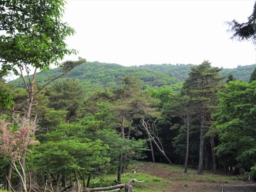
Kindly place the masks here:
MULTIPOLYGON (((85 88, 116 86, 121 83, 120 77, 128 73, 135 73, 140 76, 146 87, 173 86, 179 89, 184 79, 188 78, 188 73, 192 64, 147 64, 139 67, 124 67, 113 63, 99 63, 98 61, 87 62, 72 69, 64 78, 79 79, 85 88), (174 84, 176 86, 174 86, 174 84), (178 84, 178 85, 177 85, 178 84)), ((238 66, 234 69, 223 69, 222 76, 232 74, 237 80, 248 82, 256 64, 238 66)), ((50 79, 61 74, 62 68, 54 68, 49 71, 39 72, 36 82, 45 84, 50 79)), ((22 84, 21 79, 12 80, 10 83, 22 84)))

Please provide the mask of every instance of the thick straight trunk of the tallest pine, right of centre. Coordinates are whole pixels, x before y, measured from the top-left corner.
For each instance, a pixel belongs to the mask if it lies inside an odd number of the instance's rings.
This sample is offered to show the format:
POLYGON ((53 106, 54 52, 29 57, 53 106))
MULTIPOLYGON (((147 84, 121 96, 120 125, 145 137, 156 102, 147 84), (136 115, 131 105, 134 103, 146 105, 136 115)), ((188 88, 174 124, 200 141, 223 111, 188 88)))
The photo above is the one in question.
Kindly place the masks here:
POLYGON ((204 103, 202 102, 202 107, 201 107, 201 128, 200 128, 200 144, 199 144, 199 165, 198 165, 198 170, 197 174, 202 174, 203 173, 203 150, 204 150, 204 103))

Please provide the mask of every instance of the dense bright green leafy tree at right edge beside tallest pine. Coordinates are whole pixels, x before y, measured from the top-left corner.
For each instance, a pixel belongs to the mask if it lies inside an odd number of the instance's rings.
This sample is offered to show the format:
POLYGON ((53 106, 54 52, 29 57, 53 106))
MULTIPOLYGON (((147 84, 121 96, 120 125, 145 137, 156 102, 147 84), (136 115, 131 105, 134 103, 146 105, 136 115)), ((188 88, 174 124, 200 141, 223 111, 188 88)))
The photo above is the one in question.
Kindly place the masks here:
POLYGON ((221 141, 217 155, 223 162, 249 171, 256 158, 256 82, 229 82, 226 89, 227 93, 218 94, 219 113, 212 116, 221 141))

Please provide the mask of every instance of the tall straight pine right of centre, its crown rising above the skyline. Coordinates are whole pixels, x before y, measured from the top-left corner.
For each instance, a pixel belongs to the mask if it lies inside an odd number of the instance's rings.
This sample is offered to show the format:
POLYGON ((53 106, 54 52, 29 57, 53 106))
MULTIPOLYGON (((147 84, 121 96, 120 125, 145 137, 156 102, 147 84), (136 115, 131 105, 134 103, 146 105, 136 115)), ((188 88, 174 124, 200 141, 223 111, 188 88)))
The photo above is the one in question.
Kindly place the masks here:
MULTIPOLYGON (((204 61, 200 65, 191 67, 189 78, 185 80, 184 89, 187 95, 193 98, 200 111, 200 147, 198 174, 203 172, 203 148, 204 133, 209 128, 209 113, 211 113, 214 98, 219 87, 219 82, 223 79, 219 76, 222 68, 211 67, 209 61, 204 61)), ((215 99, 217 100, 217 98, 215 99)))

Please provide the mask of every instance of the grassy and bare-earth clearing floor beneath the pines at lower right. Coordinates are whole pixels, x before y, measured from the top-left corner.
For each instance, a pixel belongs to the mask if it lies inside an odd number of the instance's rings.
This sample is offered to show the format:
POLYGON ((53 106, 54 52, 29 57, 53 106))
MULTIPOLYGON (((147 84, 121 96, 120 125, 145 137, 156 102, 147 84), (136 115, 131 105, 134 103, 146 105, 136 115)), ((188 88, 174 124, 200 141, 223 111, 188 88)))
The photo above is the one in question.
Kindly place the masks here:
MULTIPOLYGON (((217 174, 212 174, 211 171, 204 170, 203 174, 196 175, 196 169, 188 169, 187 176, 184 176, 183 166, 171 166, 163 163, 144 163, 139 166, 138 171, 170 181, 169 187, 163 188, 161 190, 162 192, 221 192, 222 184, 255 184, 249 181, 238 180, 233 172, 225 174, 223 170, 217 170, 217 174)), ((161 188, 160 183, 159 188, 161 188)))

